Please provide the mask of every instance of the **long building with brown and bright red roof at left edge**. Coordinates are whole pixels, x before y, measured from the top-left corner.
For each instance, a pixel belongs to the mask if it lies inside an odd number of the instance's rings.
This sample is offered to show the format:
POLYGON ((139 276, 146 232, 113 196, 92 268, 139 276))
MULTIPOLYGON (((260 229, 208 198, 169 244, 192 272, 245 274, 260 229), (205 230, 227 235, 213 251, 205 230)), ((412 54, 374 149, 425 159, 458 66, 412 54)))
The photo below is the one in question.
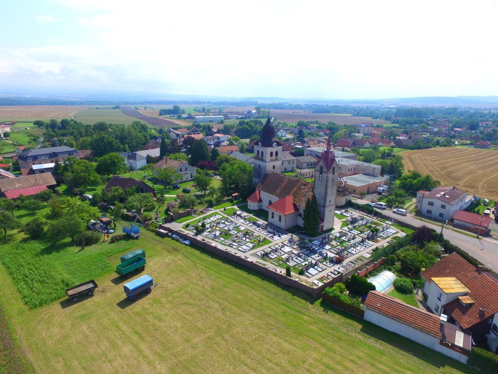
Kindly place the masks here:
POLYGON ((20 195, 36 195, 43 190, 51 189, 55 186, 56 181, 50 173, 0 179, 0 196, 5 196, 8 199, 16 199, 20 195))

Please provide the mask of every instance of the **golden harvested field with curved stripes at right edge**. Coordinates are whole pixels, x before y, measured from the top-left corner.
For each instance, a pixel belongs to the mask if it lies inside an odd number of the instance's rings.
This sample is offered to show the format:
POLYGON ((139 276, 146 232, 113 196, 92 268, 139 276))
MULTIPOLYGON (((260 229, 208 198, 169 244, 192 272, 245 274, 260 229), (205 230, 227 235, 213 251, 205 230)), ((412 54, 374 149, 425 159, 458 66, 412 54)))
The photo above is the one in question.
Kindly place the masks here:
POLYGON ((471 194, 498 199, 498 152, 476 148, 431 148, 401 153, 405 170, 417 170, 471 194))

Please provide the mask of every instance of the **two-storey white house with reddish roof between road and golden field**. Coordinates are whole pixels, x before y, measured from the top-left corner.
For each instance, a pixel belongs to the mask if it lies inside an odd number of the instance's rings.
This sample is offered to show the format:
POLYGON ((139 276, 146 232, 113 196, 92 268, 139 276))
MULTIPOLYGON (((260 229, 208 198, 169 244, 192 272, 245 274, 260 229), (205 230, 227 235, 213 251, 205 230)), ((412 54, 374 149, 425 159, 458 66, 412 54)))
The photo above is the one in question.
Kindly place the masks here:
POLYGON ((415 207, 422 216, 436 220, 451 220, 458 210, 471 205, 472 196, 455 187, 438 187, 432 191, 417 192, 415 207))

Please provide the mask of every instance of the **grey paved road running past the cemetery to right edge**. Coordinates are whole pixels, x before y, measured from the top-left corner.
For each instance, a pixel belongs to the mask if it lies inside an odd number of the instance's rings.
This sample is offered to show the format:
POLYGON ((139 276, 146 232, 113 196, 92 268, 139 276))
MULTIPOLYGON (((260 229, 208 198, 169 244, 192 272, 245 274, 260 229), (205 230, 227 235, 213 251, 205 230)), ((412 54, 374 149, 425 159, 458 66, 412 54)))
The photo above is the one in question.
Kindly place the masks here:
MULTIPOLYGON (((390 210, 383 210, 382 213, 387 217, 396 218, 399 221, 406 222, 416 227, 425 225, 437 232, 441 231, 440 225, 427 223, 414 218, 413 216, 400 216, 390 210)), ((488 268, 498 272, 498 241, 488 237, 477 239, 449 229, 443 229, 442 233, 451 243, 457 245, 469 255, 477 258, 488 268)))

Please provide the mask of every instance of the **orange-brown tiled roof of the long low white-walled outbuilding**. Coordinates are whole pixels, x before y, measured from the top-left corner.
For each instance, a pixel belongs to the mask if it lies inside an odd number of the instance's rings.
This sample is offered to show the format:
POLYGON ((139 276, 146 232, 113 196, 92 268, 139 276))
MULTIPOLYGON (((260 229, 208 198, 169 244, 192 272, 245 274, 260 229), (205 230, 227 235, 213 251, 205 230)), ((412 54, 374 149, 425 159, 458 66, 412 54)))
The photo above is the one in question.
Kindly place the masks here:
POLYGON ((368 292, 365 307, 413 329, 425 332, 438 339, 441 338, 441 323, 437 315, 403 303, 379 291, 368 292))

